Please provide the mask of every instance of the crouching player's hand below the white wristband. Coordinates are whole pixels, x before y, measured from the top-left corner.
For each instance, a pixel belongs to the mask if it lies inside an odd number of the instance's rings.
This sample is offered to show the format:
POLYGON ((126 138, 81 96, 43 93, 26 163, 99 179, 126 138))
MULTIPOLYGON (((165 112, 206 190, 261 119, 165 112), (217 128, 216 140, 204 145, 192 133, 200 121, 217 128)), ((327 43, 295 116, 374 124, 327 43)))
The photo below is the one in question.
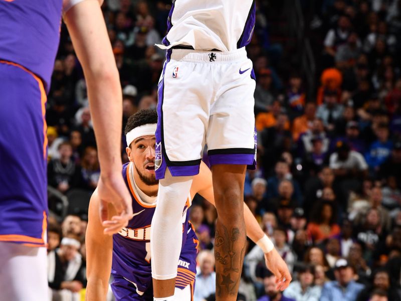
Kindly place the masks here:
POLYGON ((292 277, 287 264, 275 248, 265 253, 267 268, 276 276, 277 289, 283 291, 290 284, 292 277))

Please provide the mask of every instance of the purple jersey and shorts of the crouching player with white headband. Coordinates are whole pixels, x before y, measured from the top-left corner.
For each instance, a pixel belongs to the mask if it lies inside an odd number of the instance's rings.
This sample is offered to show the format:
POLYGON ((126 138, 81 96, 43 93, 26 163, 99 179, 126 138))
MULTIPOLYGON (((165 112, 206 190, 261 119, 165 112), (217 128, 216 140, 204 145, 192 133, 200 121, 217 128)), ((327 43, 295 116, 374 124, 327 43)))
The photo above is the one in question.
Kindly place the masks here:
MULTIPOLYGON (((133 163, 124 164, 122 174, 131 192, 134 216, 126 228, 113 235, 111 273, 115 279, 118 279, 118 281, 112 283, 116 296, 129 288, 131 290, 136 289, 139 295, 143 295, 146 290, 152 289, 150 224, 156 204, 147 204, 140 200, 135 191, 132 168, 133 163), (121 278, 125 278, 126 282, 121 281, 121 278)), ((179 288, 184 288, 188 284, 193 286, 196 273, 196 246, 198 241, 188 220, 188 206, 190 206, 189 198, 182 216, 182 249, 177 267, 176 281, 176 287, 179 288)))

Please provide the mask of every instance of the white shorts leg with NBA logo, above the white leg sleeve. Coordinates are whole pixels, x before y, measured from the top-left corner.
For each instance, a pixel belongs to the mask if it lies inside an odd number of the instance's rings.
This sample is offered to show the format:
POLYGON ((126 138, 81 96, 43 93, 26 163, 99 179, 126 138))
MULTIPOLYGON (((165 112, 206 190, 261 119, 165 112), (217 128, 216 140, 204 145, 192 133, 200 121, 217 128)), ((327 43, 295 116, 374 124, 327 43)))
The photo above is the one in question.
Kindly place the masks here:
POLYGON ((166 62, 158 89, 156 177, 198 173, 209 122, 213 82, 208 65, 171 60, 166 62))

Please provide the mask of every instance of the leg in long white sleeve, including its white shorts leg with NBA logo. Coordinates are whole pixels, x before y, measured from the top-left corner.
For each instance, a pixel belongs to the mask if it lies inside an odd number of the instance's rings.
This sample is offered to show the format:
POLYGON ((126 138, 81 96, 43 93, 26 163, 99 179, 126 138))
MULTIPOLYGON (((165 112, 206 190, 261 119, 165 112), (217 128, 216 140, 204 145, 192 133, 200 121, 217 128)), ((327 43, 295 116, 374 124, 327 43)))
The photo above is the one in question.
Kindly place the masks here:
POLYGON ((199 172, 209 120, 208 100, 213 94, 213 84, 205 80, 204 65, 174 59, 174 53, 164 67, 158 90, 155 169, 160 181, 150 239, 156 300, 174 294, 182 213, 192 176, 199 172))

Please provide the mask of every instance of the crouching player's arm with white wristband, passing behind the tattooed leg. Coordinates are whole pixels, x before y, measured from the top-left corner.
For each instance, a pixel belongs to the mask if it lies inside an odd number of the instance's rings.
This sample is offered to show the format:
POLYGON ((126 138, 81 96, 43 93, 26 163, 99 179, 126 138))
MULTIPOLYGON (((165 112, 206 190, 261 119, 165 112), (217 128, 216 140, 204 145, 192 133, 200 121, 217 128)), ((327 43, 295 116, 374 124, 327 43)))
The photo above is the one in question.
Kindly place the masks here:
MULTIPOLYGON (((204 197, 211 204, 215 205, 215 196, 213 193, 212 172, 205 163, 200 164, 199 174, 193 177, 192 186, 190 190, 191 196, 196 193, 204 197)), ((288 270, 287 264, 277 252, 277 250, 270 245, 271 241, 259 226, 258 221, 253 216, 251 210, 244 203, 244 219, 247 230, 247 236, 255 243, 257 243, 265 253, 266 266, 277 277, 277 287, 284 290, 291 282, 291 274, 288 270)))

